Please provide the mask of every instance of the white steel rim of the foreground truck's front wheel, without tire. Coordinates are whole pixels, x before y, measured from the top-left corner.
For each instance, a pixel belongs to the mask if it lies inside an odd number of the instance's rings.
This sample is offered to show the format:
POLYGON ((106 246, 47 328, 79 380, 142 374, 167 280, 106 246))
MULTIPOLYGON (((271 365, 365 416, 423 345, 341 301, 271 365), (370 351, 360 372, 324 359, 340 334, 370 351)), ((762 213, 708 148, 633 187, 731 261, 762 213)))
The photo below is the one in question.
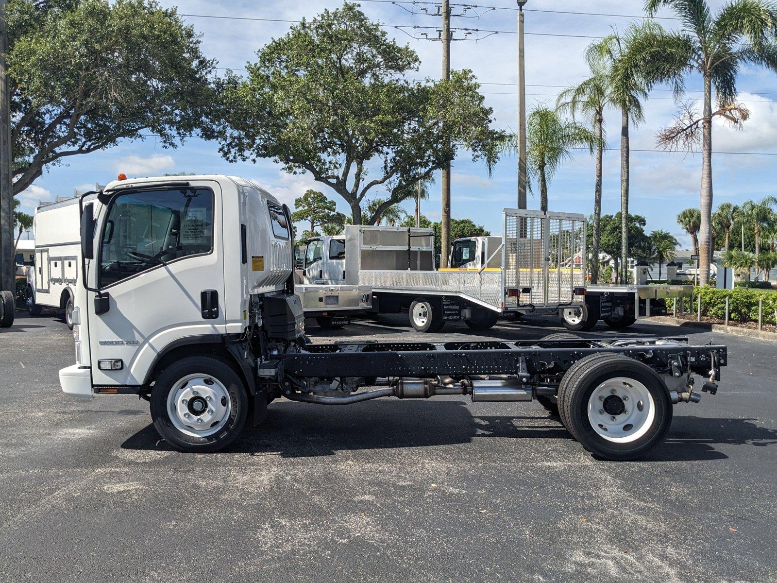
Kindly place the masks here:
POLYGON ((178 431, 192 437, 207 437, 221 431, 229 419, 232 399, 221 381, 194 373, 170 387, 167 414, 178 431))

